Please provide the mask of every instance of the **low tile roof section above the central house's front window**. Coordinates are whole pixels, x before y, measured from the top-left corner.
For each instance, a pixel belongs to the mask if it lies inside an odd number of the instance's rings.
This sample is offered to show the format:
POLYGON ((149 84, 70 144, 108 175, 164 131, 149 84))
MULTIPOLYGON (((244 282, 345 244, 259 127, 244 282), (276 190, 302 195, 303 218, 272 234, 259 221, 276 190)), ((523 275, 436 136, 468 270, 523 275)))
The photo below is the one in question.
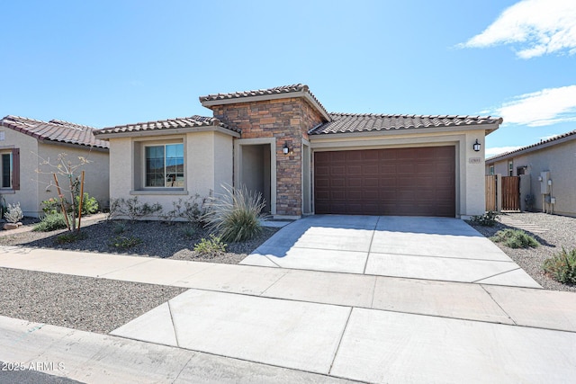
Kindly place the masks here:
POLYGON ((205 117, 193 115, 190 117, 182 117, 175 119, 166 119, 159 121, 137 122, 136 124, 118 125, 115 127, 98 129, 94 132, 95 135, 113 134, 113 133, 128 133, 139 132, 144 130, 166 130, 166 129, 179 129, 179 128, 193 128, 193 127, 221 127, 232 131, 239 131, 231 129, 228 125, 220 122, 220 120, 213 117, 205 117))

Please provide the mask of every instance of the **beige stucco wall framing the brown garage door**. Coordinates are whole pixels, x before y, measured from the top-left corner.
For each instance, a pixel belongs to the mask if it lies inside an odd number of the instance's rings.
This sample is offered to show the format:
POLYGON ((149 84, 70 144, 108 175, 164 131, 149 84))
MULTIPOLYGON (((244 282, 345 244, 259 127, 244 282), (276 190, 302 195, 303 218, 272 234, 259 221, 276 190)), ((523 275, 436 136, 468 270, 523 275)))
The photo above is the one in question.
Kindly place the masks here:
MULTIPOLYGON (((488 129, 490 127, 486 127, 488 129)), ((484 137, 482 129, 430 129, 430 131, 378 132, 365 135, 311 136, 313 151, 393 147, 455 146, 456 217, 468 219, 485 211, 484 137), (481 151, 474 152, 478 139, 481 151)), ((313 177, 313 176, 312 176, 313 177)))

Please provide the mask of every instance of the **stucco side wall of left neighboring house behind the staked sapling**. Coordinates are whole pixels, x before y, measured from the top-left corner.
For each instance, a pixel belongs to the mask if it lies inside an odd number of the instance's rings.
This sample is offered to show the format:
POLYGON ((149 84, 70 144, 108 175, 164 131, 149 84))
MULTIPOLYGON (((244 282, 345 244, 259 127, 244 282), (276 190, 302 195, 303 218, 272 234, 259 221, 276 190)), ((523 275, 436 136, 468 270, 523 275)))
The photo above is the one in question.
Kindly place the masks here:
MULTIPOLYGON (((51 143, 39 143, 38 146, 39 154, 42 158, 49 159, 50 164, 56 165, 58 155, 65 153, 67 160, 73 165, 79 164, 80 160, 78 156, 85 157, 89 163, 79 167, 76 174, 79 176, 81 172, 85 171, 84 179, 84 192, 87 192, 90 196, 94 197, 101 209, 108 208, 110 204, 109 196, 109 154, 107 150, 92 149, 88 147, 78 147, 78 146, 62 146, 51 143)), ((21 153, 22 156, 22 153, 21 153)), ((50 197, 57 197, 58 192, 56 188, 51 187, 50 192, 46 192, 46 184, 53 180, 52 172, 55 171, 54 168, 49 165, 39 165, 42 174, 39 175, 40 183, 38 184, 38 196, 39 202, 49 199, 50 197), (49 174, 46 174, 49 173, 49 174)), ((58 183, 64 188, 67 185, 65 178, 58 174, 58 183)))

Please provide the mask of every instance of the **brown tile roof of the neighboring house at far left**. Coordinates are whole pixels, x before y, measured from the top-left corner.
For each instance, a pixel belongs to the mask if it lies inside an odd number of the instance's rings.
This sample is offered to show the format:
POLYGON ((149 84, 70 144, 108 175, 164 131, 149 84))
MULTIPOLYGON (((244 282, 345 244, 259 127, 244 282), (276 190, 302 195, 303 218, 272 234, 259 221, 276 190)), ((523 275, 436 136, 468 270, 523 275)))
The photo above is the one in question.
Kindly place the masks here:
POLYGON ((67 121, 40 121, 8 115, 0 126, 14 129, 39 140, 57 141, 86 147, 108 148, 109 143, 94 138, 96 129, 67 121))

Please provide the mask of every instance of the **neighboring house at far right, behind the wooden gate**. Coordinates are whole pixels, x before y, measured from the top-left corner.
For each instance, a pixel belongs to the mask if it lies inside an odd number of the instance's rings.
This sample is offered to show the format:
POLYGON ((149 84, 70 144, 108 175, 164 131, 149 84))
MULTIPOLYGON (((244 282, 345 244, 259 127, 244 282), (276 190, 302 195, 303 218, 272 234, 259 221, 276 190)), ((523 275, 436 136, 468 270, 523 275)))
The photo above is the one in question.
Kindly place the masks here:
POLYGON ((486 159, 485 171, 486 174, 521 176, 520 202, 524 208, 527 195, 531 195, 534 197, 532 210, 576 216, 576 130, 492 156, 486 159))

